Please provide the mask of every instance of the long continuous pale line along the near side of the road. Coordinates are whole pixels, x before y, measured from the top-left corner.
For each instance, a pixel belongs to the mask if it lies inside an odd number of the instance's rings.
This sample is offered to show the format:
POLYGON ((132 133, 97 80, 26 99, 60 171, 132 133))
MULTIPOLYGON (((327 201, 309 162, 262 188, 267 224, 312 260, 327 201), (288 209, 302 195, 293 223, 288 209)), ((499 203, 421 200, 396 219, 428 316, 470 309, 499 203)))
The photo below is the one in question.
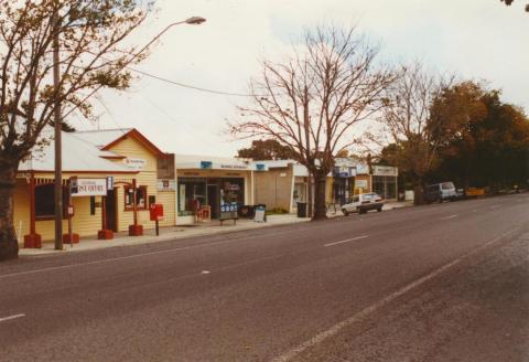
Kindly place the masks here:
POLYGON ((295 358, 298 354, 302 353, 303 351, 305 351, 306 349, 309 348, 312 348, 321 342, 323 342, 324 340, 331 338, 331 337, 334 337, 336 336, 342 329, 348 327, 348 326, 352 326, 354 324, 355 322, 361 320, 363 318, 366 318, 368 317, 370 313, 373 313, 374 311, 376 311, 377 309, 380 309, 381 307, 388 305, 389 302, 393 301, 395 299, 397 299, 398 297, 407 294, 408 291, 425 284, 427 281, 433 279, 434 277, 436 277, 438 275, 440 275, 441 273, 443 272, 446 272, 447 269, 452 268, 454 265, 456 264, 460 264, 462 260, 466 259, 467 257, 474 255, 474 254, 477 254, 478 252, 481 252, 482 249, 497 243, 498 241, 500 241, 501 238, 504 238, 505 236, 507 236, 508 234, 512 233, 514 231, 516 231, 518 227, 520 226, 517 226, 517 227, 514 227, 509 231, 507 231, 506 233, 499 235, 498 237, 483 244, 482 246, 460 256, 458 258, 456 258, 455 260, 449 263, 449 264, 445 264, 443 265, 442 267, 433 270, 432 273, 417 279, 415 281, 407 285, 406 287, 397 290, 396 292, 387 296, 386 298, 382 298, 380 300, 378 300, 377 302, 375 302, 374 305, 369 306, 369 307, 366 307, 364 308, 363 310, 360 310, 358 313, 332 326, 330 329, 323 331, 323 332, 320 332, 317 333, 316 336, 314 336, 313 338, 311 338, 310 340, 301 343, 300 345, 293 348, 292 350, 288 351, 287 353, 284 354, 281 354, 280 356, 272 360, 272 362, 288 362, 290 360, 292 360, 293 358, 295 358))

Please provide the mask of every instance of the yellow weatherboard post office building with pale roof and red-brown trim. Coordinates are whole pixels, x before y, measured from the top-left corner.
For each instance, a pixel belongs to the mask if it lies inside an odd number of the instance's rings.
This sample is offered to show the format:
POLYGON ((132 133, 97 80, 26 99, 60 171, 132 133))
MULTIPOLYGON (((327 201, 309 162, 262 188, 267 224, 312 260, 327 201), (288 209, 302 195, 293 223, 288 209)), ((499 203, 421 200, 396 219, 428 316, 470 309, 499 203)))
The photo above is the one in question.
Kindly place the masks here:
MULTIPOLYGON (((154 203, 164 209, 160 224, 175 224, 175 192, 161 187, 158 177, 159 160, 168 156, 138 130, 63 132, 63 230, 68 231, 73 213, 74 241, 127 231, 140 235, 154 227, 149 213, 154 203)), ((53 160, 52 140, 19 168, 14 223, 25 247, 54 238, 53 160)))

